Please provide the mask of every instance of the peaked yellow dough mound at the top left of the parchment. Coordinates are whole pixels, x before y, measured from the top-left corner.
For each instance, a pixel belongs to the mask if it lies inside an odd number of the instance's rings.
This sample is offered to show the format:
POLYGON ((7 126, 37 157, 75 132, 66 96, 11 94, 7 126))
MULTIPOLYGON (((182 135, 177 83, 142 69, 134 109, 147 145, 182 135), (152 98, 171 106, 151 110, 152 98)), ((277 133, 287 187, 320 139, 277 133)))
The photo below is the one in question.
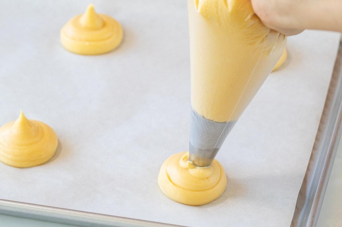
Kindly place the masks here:
POLYGON ((108 15, 96 14, 90 4, 86 12, 69 20, 61 29, 63 46, 76 54, 104 54, 122 40, 121 25, 108 15))

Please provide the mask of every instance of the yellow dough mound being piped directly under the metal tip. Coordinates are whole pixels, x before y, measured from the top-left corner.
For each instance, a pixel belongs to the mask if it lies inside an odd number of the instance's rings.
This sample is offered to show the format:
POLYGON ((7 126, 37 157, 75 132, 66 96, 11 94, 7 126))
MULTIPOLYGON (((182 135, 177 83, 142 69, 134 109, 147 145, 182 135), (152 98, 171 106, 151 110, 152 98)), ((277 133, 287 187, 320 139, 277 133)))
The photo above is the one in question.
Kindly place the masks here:
POLYGON ((170 199, 187 205, 209 203, 224 192, 227 178, 222 165, 214 160, 210 166, 196 167, 189 152, 169 157, 161 166, 158 183, 170 199))

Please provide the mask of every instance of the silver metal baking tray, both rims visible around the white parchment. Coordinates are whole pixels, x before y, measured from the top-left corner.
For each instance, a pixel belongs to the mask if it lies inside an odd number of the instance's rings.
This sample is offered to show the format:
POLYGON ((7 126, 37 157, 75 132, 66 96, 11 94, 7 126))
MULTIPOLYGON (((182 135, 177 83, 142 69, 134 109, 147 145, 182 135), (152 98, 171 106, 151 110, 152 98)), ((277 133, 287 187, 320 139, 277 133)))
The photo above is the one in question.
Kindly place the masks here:
MULTIPOLYGON (((342 41, 291 227, 315 226, 342 132, 342 41)), ((176 226, 0 199, 0 214, 77 226, 176 226)))

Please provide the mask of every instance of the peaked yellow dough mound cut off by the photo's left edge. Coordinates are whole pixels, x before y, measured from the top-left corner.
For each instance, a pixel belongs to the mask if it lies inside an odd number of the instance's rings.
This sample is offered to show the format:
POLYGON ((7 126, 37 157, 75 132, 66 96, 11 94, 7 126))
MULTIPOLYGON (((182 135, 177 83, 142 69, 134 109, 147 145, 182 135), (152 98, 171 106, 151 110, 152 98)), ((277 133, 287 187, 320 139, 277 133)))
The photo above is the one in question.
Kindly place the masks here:
POLYGON ((0 128, 0 161, 14 167, 31 167, 47 162, 56 151, 53 129, 40 121, 28 120, 23 111, 16 121, 0 128))

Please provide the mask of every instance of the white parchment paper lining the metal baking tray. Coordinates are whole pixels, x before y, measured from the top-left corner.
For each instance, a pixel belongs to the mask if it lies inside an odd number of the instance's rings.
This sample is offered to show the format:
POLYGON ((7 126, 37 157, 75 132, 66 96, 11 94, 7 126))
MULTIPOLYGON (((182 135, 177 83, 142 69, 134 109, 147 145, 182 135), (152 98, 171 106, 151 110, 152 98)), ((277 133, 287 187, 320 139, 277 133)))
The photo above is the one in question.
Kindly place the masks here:
POLYGON ((59 29, 86 2, 0 1, 0 124, 23 109, 60 141, 47 164, 0 163, 0 198, 188 226, 289 226, 340 34, 288 39, 289 61, 266 80, 217 156, 226 191, 190 207, 157 183, 163 161, 188 148, 186 2, 93 2, 124 29, 122 45, 101 56, 71 54, 59 43, 59 29))

